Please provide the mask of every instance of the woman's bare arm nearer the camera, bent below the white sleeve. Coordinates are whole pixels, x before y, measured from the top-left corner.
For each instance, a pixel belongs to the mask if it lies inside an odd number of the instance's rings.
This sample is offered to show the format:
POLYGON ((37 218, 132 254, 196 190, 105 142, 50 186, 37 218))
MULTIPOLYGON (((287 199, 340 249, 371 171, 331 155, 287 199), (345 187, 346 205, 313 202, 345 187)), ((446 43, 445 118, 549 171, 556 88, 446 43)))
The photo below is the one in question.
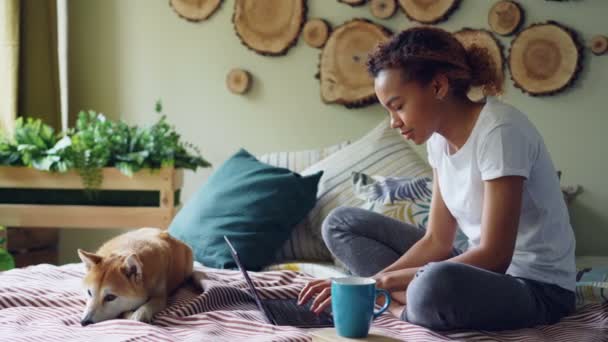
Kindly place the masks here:
MULTIPOLYGON (((524 178, 519 176, 501 177, 484 182, 480 244, 459 256, 448 259, 449 261, 497 273, 507 271, 515 249, 523 184, 524 178)), ((406 255, 407 253, 404 257, 406 255)), ((418 268, 405 268, 380 274, 377 277, 378 286, 389 291, 403 289, 404 284, 409 284, 413 279, 418 268)))

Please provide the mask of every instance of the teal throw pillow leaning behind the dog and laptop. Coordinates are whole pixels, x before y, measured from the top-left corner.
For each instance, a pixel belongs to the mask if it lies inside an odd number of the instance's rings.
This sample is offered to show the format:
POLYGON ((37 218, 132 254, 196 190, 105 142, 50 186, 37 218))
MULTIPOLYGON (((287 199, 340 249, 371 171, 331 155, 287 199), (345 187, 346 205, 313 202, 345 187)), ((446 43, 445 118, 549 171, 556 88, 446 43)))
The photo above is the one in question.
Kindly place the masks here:
POLYGON ((235 268, 226 235, 245 267, 260 270, 314 207, 322 174, 300 176, 241 149, 179 211, 169 233, 203 265, 235 268))

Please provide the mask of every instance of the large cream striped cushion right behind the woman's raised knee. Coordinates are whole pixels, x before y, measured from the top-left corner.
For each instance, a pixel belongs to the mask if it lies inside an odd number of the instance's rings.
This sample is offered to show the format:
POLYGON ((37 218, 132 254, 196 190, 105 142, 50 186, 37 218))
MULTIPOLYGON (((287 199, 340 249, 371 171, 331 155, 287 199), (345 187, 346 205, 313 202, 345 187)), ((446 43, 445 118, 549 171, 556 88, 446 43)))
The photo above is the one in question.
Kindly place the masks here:
MULTIPOLYGON (((302 175, 320 170, 317 204, 308 217, 293 232, 294 242, 279 260, 332 260, 321 237, 321 224, 339 206, 359 206, 363 200, 353 192, 351 175, 365 172, 384 176, 429 176, 430 167, 403 139, 391 129, 388 119, 352 144, 303 170, 302 175)), ((285 252, 285 250, 283 251, 285 252)))

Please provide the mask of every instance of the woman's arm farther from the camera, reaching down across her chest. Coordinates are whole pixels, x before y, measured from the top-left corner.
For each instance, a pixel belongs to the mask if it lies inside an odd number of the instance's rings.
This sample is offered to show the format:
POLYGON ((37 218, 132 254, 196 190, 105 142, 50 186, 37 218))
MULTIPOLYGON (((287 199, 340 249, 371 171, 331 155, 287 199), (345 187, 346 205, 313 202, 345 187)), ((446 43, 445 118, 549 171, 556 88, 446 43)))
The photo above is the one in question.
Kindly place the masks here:
POLYGON ((437 171, 433 169, 433 197, 426 234, 393 264, 380 271, 382 274, 411 267, 426 265, 450 257, 456 234, 456 219, 450 213, 439 189, 437 171))

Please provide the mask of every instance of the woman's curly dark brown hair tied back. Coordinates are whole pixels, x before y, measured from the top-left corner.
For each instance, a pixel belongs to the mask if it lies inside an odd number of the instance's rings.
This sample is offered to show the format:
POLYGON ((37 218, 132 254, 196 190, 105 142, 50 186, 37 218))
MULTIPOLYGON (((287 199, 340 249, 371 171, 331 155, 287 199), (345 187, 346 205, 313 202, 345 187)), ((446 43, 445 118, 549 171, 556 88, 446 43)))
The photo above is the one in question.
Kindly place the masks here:
POLYGON ((435 27, 414 27, 380 44, 367 60, 367 70, 376 77, 385 69, 401 68, 404 79, 428 84, 443 73, 456 96, 466 96, 472 86, 482 86, 485 95, 502 91, 502 80, 486 48, 473 45, 468 51, 449 32, 435 27))

